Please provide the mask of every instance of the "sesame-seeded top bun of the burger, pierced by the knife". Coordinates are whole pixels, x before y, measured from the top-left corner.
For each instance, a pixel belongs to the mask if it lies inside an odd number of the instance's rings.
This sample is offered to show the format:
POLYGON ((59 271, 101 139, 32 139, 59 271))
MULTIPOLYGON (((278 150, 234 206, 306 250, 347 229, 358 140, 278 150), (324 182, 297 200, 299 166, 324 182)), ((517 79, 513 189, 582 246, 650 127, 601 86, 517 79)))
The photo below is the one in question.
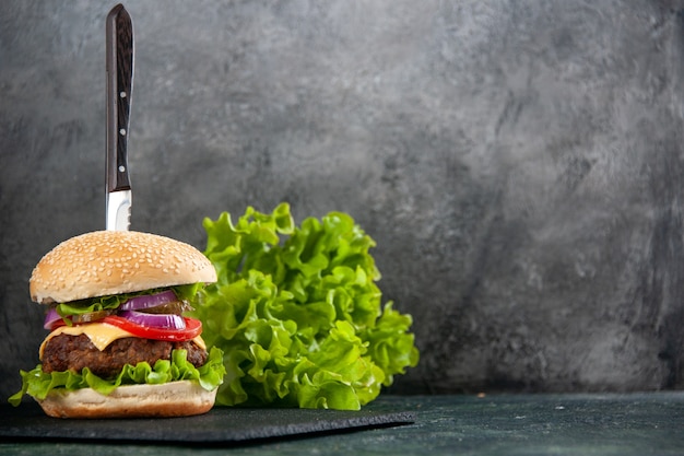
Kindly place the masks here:
POLYGON ((33 301, 50 304, 215 281, 211 261, 191 245, 135 231, 96 231, 47 253, 30 291, 33 301))

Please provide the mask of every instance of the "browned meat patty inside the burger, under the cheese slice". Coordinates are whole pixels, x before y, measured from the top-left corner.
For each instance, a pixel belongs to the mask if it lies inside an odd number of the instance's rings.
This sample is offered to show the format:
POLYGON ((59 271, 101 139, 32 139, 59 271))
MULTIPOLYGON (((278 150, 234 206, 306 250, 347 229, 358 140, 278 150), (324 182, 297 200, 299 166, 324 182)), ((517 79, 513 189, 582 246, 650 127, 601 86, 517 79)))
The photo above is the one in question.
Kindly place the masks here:
POLYGON ((109 378, 116 376, 126 364, 135 365, 146 361, 154 365, 157 360, 170 360, 173 350, 187 350, 188 362, 196 367, 207 362, 207 350, 193 341, 166 342, 163 340, 127 337, 117 339, 106 349, 99 351, 85 335, 59 335, 45 346, 43 353, 43 371, 62 372, 71 370, 81 372, 89 367, 95 375, 109 378))

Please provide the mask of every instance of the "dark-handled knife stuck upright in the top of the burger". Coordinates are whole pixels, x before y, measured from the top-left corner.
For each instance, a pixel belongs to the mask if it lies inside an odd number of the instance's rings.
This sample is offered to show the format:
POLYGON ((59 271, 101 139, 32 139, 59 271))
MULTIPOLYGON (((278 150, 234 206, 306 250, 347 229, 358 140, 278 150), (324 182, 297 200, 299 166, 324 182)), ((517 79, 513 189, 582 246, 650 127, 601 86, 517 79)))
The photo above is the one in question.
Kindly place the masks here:
POLYGON ((128 137, 133 89, 133 24, 122 4, 109 11, 107 58, 107 230, 127 231, 132 203, 128 137))

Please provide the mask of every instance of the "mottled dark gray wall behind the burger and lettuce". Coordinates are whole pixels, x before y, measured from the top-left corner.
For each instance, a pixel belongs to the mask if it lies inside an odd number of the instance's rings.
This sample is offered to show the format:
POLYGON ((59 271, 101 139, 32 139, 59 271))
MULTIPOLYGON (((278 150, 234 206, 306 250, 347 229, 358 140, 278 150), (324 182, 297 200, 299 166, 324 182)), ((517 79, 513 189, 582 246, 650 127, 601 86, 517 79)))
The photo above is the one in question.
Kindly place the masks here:
MULTIPOLYGON (((0 393, 28 277, 104 227, 105 16, 0 2, 0 393)), ((396 393, 684 385, 684 5, 129 1, 132 229, 351 213, 422 360, 396 393)))

